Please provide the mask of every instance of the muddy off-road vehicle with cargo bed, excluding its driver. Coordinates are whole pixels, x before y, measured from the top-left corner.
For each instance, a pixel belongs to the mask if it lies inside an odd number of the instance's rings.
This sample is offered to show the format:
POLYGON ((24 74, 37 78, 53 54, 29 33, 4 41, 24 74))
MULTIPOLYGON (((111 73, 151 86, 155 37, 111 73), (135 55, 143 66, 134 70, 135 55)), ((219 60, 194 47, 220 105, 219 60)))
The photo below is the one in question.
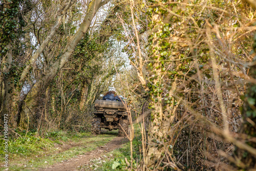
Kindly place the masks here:
POLYGON ((124 101, 96 100, 92 132, 100 134, 100 129, 104 128, 109 131, 119 130, 118 136, 126 136, 129 120, 127 119, 125 105, 124 101))

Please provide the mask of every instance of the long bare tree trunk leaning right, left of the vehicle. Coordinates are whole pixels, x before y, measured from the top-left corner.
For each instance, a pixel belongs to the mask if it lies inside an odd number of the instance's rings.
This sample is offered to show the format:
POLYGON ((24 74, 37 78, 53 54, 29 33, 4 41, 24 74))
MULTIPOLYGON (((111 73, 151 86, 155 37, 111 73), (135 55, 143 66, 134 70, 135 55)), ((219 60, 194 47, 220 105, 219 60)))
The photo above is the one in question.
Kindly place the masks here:
POLYGON ((72 37, 69 45, 65 49, 65 52, 62 54, 60 59, 58 59, 53 65, 46 71, 45 76, 41 77, 40 80, 38 80, 33 87, 30 89, 29 93, 27 94, 24 104, 22 106, 22 112, 20 113, 20 126, 21 127, 27 127, 29 126, 26 120, 28 120, 28 117, 30 120, 32 119, 31 115, 33 115, 35 106, 36 106, 36 97, 38 96, 40 90, 47 85, 50 80, 52 80, 58 71, 68 62, 70 56, 75 50, 76 45, 80 41, 80 39, 84 36, 84 34, 89 29, 92 19, 94 18, 96 12, 98 9, 104 5, 106 2, 109 2, 109 0, 101 2, 101 0, 94 0, 89 4, 86 16, 83 19, 82 24, 80 25, 80 28, 75 33, 75 35, 72 37))

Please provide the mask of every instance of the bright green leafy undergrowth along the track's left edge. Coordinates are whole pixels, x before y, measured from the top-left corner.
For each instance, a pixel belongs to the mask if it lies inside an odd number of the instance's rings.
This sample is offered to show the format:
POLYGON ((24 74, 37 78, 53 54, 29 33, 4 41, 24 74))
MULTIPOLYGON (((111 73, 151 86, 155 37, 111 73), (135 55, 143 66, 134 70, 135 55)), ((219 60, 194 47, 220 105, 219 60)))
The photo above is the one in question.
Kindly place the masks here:
MULTIPOLYGON (((11 157, 32 157, 38 156, 45 153, 49 149, 54 147, 54 144, 63 144, 67 141, 79 141, 81 138, 90 137, 89 132, 80 132, 79 134, 74 134, 74 132, 63 132, 54 131, 46 133, 46 137, 38 136, 37 132, 34 130, 23 132, 16 132, 19 136, 18 138, 10 137, 8 141, 8 153, 12 154, 11 157), (25 137, 26 136, 26 137, 25 137)), ((0 140, 0 143, 5 142, 4 139, 0 140)), ((0 154, 4 154, 4 146, 0 147, 0 154)))

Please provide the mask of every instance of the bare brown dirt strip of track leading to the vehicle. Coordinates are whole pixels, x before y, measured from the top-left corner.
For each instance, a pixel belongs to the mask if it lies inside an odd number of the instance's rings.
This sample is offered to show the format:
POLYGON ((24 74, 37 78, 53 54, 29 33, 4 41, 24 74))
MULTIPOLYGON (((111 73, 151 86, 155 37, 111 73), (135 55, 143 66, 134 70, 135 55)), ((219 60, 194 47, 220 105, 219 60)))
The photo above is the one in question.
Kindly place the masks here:
POLYGON ((111 142, 105 144, 104 146, 98 147, 94 151, 88 152, 84 155, 79 155, 77 158, 72 158, 62 163, 56 163, 48 168, 41 168, 40 171, 50 171, 50 170, 78 170, 80 166, 89 164, 91 159, 99 158, 102 155, 113 151, 114 149, 120 147, 123 143, 128 140, 124 137, 116 137, 111 142))

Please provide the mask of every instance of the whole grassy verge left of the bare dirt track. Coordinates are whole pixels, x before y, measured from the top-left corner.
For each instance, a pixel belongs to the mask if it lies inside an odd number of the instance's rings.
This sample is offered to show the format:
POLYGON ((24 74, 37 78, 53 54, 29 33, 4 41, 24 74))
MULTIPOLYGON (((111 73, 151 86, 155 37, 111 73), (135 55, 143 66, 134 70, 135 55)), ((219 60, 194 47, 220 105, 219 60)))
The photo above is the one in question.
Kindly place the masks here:
MULTIPOLYGON (((26 138, 10 140, 9 170, 36 170, 38 167, 47 167, 93 151, 116 136, 117 131, 97 136, 88 132, 66 133, 61 131, 49 133, 48 138, 37 138, 34 134, 29 134, 26 138), (70 144, 71 142, 77 145, 59 153, 57 144, 70 144)), ((2 158, 1 162, 3 162, 2 158)), ((0 170, 4 169, 5 167, 0 168, 0 170)))

